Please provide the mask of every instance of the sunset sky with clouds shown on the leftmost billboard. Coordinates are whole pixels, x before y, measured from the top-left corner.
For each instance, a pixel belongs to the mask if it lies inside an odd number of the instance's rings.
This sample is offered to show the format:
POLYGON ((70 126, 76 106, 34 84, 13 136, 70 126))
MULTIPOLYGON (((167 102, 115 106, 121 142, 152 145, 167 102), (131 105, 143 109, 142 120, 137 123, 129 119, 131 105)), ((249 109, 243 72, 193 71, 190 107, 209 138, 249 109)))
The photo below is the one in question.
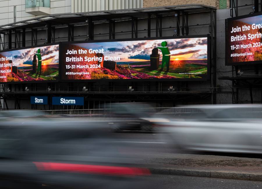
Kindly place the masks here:
MULTIPOLYGON (((59 45, 49 45, 45 47, 35 47, 30 49, 22 49, 15 51, 1 52, 0 54, 4 57, 13 56, 13 63, 20 63, 19 67, 33 65, 33 56, 40 49, 42 56, 42 65, 58 64, 59 63, 59 45)), ((36 58, 37 60, 37 58, 36 58)), ((1 63, 1 61, 0 61, 1 63)))

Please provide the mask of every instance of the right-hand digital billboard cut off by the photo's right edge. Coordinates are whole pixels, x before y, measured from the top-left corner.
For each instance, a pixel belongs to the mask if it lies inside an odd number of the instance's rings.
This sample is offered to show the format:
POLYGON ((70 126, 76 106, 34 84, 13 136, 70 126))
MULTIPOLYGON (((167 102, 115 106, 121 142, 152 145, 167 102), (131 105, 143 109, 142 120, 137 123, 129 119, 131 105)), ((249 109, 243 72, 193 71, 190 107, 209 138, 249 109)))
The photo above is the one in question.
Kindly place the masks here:
POLYGON ((262 15, 226 19, 226 65, 257 64, 262 60, 262 15))

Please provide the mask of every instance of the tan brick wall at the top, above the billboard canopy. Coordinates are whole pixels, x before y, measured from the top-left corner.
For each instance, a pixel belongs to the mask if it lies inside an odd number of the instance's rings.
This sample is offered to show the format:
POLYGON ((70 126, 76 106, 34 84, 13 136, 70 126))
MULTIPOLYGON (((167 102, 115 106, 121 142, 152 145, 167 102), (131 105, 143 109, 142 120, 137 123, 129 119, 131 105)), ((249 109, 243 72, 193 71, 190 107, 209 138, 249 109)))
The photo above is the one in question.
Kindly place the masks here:
POLYGON ((158 7, 171 5, 186 5, 186 4, 203 4, 207 6, 217 7, 217 9, 229 8, 230 0, 144 0, 144 7, 158 7))

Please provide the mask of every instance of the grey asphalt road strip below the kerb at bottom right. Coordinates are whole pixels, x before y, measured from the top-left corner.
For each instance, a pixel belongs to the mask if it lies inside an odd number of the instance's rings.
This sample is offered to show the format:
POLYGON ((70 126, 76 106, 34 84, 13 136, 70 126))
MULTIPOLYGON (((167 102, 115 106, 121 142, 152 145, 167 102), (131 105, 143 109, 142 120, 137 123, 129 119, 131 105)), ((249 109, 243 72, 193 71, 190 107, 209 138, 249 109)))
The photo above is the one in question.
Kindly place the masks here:
POLYGON ((216 189, 216 188, 262 188, 261 181, 217 179, 195 176, 157 174, 150 178, 151 189, 216 189))

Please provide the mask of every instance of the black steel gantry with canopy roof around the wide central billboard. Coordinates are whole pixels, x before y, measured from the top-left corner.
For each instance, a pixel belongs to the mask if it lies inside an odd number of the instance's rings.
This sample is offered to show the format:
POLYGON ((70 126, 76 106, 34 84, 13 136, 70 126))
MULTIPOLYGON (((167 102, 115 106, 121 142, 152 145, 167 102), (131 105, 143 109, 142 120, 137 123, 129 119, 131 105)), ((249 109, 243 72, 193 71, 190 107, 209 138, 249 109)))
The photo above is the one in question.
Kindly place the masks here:
MULTIPOLYGON (((88 100, 128 101, 147 99, 171 100, 172 106, 176 101, 190 101, 197 96, 206 104, 216 103, 216 8, 201 4, 165 6, 153 8, 136 8, 124 10, 109 10, 84 13, 66 13, 45 15, 33 19, 0 26, 0 47, 15 49, 39 44, 49 44, 60 41, 118 39, 118 38, 147 38, 180 35, 210 34, 210 79, 208 81, 174 82, 92 82, 79 83, 32 83, 30 94, 47 94, 51 96, 68 94, 84 95, 78 92, 81 83, 88 86, 88 100), (80 28, 80 30, 78 29, 80 28), (102 29, 101 29, 102 28, 102 29), (62 33, 62 35, 61 35, 62 33), (51 86, 48 93, 43 88, 51 86), (103 85, 107 87, 103 88, 103 85), (118 88, 116 87, 118 85, 118 88), (137 92, 128 93, 126 86, 137 87, 137 92), (168 92, 167 86, 174 85, 176 90, 168 92), (123 86, 122 88, 119 86, 123 86), (40 89, 42 88, 42 89, 40 89), (116 89, 117 88, 117 89, 116 89), (42 91, 42 92, 40 92, 42 91)), ((22 90, 25 84, 4 84, 1 98, 16 99, 15 108, 22 108, 20 100, 25 98, 22 90)), ((29 94, 29 93, 26 93, 29 94)), ((26 97, 28 98, 28 97, 26 97)), ((89 102, 88 102, 89 103, 89 102)), ((186 102, 182 102, 187 104, 186 102)), ((192 102, 194 103, 194 102, 192 102)), ((49 106, 49 109, 55 107, 49 106)), ((89 108, 89 105, 88 105, 89 108)))

